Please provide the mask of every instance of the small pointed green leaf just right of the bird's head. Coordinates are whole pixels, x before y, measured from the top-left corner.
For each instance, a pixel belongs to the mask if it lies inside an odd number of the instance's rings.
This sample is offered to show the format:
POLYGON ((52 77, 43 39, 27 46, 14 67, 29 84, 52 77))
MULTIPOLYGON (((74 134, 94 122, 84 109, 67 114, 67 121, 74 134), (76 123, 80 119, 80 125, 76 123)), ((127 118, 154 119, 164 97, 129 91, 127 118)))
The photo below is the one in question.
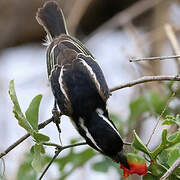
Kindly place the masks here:
POLYGON ((135 149, 144 152, 145 154, 147 154, 151 158, 151 152, 147 149, 147 147, 141 141, 139 136, 136 134, 135 130, 133 130, 133 136, 134 136, 134 140, 133 140, 132 146, 135 149))

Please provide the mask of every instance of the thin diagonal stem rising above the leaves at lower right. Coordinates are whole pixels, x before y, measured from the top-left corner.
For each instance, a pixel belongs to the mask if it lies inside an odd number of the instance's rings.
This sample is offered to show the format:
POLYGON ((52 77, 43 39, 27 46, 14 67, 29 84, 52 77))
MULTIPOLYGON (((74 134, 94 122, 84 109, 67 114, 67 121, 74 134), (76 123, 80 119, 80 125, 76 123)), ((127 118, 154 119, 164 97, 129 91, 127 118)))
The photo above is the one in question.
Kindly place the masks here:
POLYGON ((152 133, 151 133, 151 135, 150 135, 150 137, 149 137, 149 140, 148 140, 146 146, 149 145, 149 143, 150 143, 150 141, 151 141, 151 139, 152 139, 152 137, 153 137, 153 135, 154 135, 154 133, 155 133, 155 131, 156 131, 156 128, 157 128, 157 126, 158 126, 158 124, 159 124, 162 116, 164 115, 166 109, 167 109, 168 106, 169 106, 169 103, 172 101, 172 99, 173 99, 173 97, 175 96, 175 94, 176 94, 176 92, 173 92, 172 95, 170 96, 170 98, 168 99, 168 101, 167 101, 167 103, 166 103, 163 111, 161 112, 161 114, 160 114, 160 116, 159 116, 159 118, 158 118, 158 120, 157 120, 157 122, 156 122, 156 125, 154 126, 154 128, 153 128, 153 130, 152 130, 152 133))

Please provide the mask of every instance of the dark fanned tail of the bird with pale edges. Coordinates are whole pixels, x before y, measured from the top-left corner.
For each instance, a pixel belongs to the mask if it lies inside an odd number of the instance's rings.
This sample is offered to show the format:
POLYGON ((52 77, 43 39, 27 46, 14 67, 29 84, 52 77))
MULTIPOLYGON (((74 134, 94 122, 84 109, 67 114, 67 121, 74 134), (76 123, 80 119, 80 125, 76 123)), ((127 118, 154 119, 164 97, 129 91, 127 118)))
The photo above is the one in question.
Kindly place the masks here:
POLYGON ((48 1, 39 8, 36 19, 47 32, 50 41, 61 34, 68 34, 63 12, 55 1, 48 1))

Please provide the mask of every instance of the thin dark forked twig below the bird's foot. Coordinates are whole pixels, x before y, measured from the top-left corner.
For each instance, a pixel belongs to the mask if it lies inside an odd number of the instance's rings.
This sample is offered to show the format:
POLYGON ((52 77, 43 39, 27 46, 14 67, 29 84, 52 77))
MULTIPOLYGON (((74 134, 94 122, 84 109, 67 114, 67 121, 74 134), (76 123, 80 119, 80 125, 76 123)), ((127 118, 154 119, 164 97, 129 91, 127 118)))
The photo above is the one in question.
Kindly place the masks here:
POLYGON ((62 147, 62 146, 60 146, 58 144, 54 144, 54 143, 44 143, 44 145, 47 145, 47 146, 55 146, 56 148, 58 148, 58 150, 56 151, 55 155, 53 156, 53 158, 51 159, 49 164, 46 166, 46 168, 42 172, 39 180, 41 180, 44 177, 45 173, 47 172, 47 170, 49 169, 49 167, 51 166, 51 164, 54 162, 54 160, 57 158, 57 156, 59 155, 59 153, 61 151, 63 151, 64 149, 67 149, 67 148, 71 148, 71 147, 75 147, 75 146, 82 146, 82 145, 86 145, 86 144, 87 144, 86 142, 82 142, 82 143, 71 144, 71 145, 67 145, 67 146, 62 147))

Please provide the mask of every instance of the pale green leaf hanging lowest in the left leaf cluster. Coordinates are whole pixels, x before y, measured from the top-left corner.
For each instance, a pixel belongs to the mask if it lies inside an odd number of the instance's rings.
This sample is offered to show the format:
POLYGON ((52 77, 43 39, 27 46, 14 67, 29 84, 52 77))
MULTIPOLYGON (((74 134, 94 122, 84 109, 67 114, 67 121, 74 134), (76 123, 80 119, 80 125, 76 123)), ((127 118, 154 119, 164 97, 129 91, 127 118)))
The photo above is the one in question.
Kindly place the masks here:
POLYGON ((41 172, 44 165, 46 164, 45 157, 41 155, 42 149, 44 148, 42 145, 35 144, 33 149, 34 149, 34 154, 33 154, 33 161, 31 165, 36 172, 41 172))

